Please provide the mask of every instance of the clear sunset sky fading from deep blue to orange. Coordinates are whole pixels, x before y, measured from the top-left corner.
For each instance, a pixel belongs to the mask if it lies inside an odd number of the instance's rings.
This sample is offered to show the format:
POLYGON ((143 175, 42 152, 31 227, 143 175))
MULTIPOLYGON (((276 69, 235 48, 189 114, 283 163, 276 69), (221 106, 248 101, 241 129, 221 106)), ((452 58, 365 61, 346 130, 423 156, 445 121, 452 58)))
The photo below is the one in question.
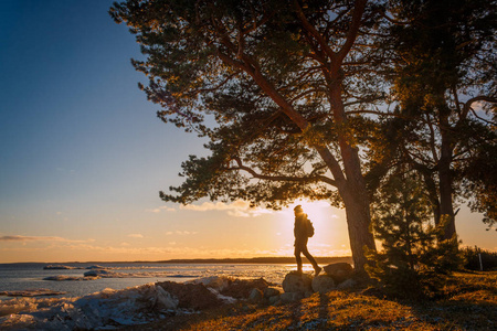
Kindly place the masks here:
MULTIPOLYGON (((0 263, 292 256, 292 209, 159 199, 205 141, 156 117, 112 2, 0 1, 0 263)), ((350 255, 345 212, 299 203, 311 254, 350 255)), ((480 218, 458 213, 463 245, 497 250, 480 218)))

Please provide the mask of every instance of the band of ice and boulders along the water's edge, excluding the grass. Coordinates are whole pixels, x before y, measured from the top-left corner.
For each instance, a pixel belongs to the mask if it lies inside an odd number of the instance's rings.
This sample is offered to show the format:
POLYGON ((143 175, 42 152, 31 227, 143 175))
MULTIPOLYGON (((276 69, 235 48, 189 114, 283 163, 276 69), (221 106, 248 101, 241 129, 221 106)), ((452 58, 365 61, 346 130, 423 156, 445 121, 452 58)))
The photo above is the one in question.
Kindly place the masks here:
POLYGON ((281 306, 335 288, 353 286, 347 263, 326 266, 324 275, 289 273, 282 285, 263 278, 205 277, 189 282, 162 281, 80 298, 15 298, 2 302, 2 330, 89 330, 146 324, 246 302, 281 306))

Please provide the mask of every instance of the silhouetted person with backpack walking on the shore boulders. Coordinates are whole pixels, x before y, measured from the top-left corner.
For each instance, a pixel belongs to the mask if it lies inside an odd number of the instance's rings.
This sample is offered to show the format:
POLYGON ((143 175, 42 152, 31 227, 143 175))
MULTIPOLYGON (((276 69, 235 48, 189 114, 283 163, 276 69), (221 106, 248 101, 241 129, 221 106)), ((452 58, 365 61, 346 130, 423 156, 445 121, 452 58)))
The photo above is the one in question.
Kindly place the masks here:
POLYGON ((318 276, 321 271, 321 268, 318 266, 314 257, 310 255, 309 250, 307 250, 307 241, 308 237, 308 218, 307 214, 304 213, 302 205, 297 205, 294 209, 295 213, 295 225, 294 225, 294 235, 295 235, 295 258, 297 259, 297 271, 302 273, 302 257, 300 253, 304 254, 305 257, 310 261, 314 267, 315 275, 318 276))

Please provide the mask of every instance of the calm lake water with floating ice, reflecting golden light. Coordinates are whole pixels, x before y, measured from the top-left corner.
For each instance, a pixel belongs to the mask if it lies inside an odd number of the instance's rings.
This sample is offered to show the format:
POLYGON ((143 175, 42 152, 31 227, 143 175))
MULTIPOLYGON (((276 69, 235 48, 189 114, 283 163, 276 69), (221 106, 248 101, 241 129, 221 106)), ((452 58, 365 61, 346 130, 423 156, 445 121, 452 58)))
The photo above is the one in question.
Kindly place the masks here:
MULTIPOLYGON (((295 270, 295 265, 255 265, 255 264, 98 264, 116 276, 94 280, 43 280, 46 277, 83 277, 94 264, 64 264, 75 269, 43 269, 47 264, 0 264, 0 292, 22 291, 28 289, 49 289, 62 291, 59 297, 81 297, 104 290, 105 288, 124 289, 157 281, 183 282, 201 277, 230 276, 234 278, 264 278, 274 284, 282 284, 285 275, 295 270)), ((305 265, 306 267, 307 265, 305 265)), ((311 270, 310 265, 308 265, 311 270)), ((0 296, 0 300, 11 297, 0 296)))

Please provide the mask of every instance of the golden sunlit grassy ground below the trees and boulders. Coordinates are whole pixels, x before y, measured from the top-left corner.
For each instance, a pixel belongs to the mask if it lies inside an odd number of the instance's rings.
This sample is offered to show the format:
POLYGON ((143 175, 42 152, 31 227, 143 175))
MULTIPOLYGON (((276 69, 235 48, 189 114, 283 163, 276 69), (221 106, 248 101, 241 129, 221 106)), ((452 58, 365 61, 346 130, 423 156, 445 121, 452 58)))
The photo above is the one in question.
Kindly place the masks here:
POLYGON ((455 274, 433 300, 358 288, 277 307, 241 302, 136 330, 497 330, 497 271, 455 274))

